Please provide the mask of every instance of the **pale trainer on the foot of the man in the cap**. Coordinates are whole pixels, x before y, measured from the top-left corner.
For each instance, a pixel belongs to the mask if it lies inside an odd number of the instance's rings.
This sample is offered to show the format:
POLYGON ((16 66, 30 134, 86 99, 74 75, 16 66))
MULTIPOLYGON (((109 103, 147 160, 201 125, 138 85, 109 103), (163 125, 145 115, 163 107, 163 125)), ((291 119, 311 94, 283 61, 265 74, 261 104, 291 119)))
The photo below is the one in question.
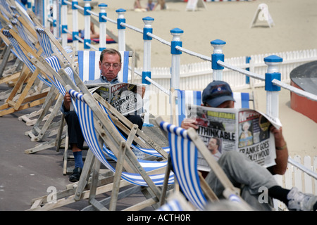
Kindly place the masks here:
POLYGON ((312 211, 313 205, 317 203, 317 196, 305 194, 292 188, 287 194, 288 209, 297 211, 312 211))

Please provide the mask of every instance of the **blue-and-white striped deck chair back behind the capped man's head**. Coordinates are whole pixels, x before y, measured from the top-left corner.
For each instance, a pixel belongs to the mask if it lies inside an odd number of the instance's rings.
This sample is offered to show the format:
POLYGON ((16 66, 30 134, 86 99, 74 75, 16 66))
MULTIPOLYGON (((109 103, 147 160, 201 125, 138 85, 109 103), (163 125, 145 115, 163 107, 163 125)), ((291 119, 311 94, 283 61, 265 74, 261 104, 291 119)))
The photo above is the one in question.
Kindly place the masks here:
MULTIPOLYGON (((176 125, 180 126, 182 120, 185 119, 186 105, 201 105, 202 103, 202 92, 201 91, 186 91, 186 90, 175 90, 175 118, 176 125)), ((235 108, 250 108, 250 101, 253 103, 251 108, 254 107, 253 93, 248 92, 233 92, 233 98, 235 98, 235 108)))

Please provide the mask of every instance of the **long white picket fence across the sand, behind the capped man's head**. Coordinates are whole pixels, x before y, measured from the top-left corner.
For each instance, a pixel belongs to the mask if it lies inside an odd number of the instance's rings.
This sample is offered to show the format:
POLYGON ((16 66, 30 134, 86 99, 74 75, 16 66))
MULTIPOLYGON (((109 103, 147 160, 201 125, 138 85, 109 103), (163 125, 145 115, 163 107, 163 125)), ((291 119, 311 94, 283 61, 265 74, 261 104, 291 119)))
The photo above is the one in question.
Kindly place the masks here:
MULTIPOLYGON (((317 60, 317 49, 254 55, 250 56, 250 63, 246 63, 245 56, 225 58, 225 63, 242 69, 249 68, 251 72, 265 75, 268 66, 264 63, 263 59, 271 55, 280 56, 283 59, 279 67, 281 81, 290 83, 290 72, 299 65, 317 60)), ((142 68, 136 68, 136 71, 142 71, 142 68)), ((212 77, 210 61, 180 65, 180 89, 182 90, 203 90, 206 84, 211 82, 212 77)), ((151 79, 165 89, 170 89, 170 68, 151 68, 151 79)), ((248 89, 252 83, 254 87, 264 86, 264 82, 260 79, 250 79, 250 84, 246 84, 245 75, 226 68, 223 70, 223 80, 228 82, 233 90, 248 89)), ((141 82, 141 78, 135 76, 135 82, 141 82)), ((158 89, 151 85, 151 91, 158 91, 158 89)))

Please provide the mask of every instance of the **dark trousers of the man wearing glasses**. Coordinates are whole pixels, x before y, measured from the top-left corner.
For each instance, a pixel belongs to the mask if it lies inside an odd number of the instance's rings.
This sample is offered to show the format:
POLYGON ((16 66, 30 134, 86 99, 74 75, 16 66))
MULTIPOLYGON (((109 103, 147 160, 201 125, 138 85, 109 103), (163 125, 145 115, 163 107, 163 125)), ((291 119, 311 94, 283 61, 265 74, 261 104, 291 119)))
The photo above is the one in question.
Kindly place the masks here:
MULTIPOLYGON (((143 120, 139 115, 127 115, 125 117, 133 124, 137 124, 139 129, 142 129, 143 120)), ((82 136, 82 129, 80 128, 80 122, 75 111, 68 112, 65 115, 65 120, 68 126, 68 140, 70 146, 72 146, 73 144, 77 144, 77 147, 82 149, 85 139, 82 136)), ((121 134, 123 134, 123 136, 125 136, 125 138, 128 138, 127 134, 124 134, 123 131, 120 132, 121 134)), ((133 142, 133 144, 136 145, 135 141, 133 142)))

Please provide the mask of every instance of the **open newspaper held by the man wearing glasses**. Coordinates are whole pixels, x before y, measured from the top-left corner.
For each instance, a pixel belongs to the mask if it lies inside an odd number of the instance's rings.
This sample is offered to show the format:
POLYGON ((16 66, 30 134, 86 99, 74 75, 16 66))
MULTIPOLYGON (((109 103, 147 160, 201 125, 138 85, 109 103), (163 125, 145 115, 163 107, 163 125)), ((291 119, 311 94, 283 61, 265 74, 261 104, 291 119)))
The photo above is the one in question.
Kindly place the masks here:
POLYGON ((86 84, 89 91, 99 94, 122 115, 142 113, 142 84, 86 84))

